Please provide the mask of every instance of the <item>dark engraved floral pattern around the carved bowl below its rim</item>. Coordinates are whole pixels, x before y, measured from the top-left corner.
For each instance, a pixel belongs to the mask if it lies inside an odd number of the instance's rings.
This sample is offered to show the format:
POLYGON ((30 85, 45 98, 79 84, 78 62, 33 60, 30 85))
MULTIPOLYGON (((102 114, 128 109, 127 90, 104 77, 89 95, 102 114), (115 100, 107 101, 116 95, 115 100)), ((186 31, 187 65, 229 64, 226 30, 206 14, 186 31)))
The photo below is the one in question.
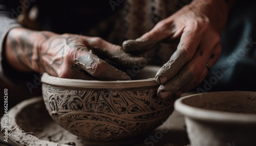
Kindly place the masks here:
POLYGON ((52 118, 90 141, 131 138, 160 126, 173 112, 171 99, 157 97, 157 87, 136 89, 68 89, 42 84, 52 118))

